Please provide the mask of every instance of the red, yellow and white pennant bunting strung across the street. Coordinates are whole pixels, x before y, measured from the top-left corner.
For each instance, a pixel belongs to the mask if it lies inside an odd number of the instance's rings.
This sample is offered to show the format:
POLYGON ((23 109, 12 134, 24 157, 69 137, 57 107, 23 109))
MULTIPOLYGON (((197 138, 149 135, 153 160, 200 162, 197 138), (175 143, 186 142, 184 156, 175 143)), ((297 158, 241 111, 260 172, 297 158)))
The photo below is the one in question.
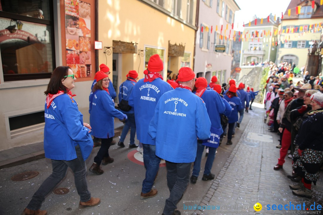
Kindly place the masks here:
MULTIPOLYGON (((323 0, 320 0, 320 5, 323 5, 323 0)), ((315 1, 312 1, 312 8, 314 9, 315 7, 315 1)), ((296 10, 296 15, 299 15, 301 13, 301 6, 297 6, 295 8, 290 8, 287 10, 287 15, 290 16, 291 15, 291 10, 295 9, 296 10)), ((284 18, 284 14, 282 12, 281 14, 281 18, 284 18)), ((276 21, 276 15, 274 16, 274 21, 276 21)), ((260 19, 260 24, 263 24, 264 19, 261 18, 260 19)), ((270 16, 267 16, 267 22, 270 22, 270 16)), ((255 25, 257 25, 257 19, 255 19, 255 25)), ((243 23, 243 26, 245 26, 245 23, 243 23)), ((249 21, 248 26, 251 26, 251 21, 249 21)), ((239 27, 239 23, 237 23, 237 27, 239 27)), ((291 35, 285 35, 285 34, 294 34, 294 33, 299 33, 298 35, 303 35, 303 34, 307 34, 307 33, 316 33, 316 32, 320 32, 322 30, 323 27, 323 22, 320 23, 315 23, 315 24, 308 24, 308 25, 297 25, 294 26, 292 28, 282 28, 278 31, 278 29, 275 29, 272 31, 268 30, 255 30, 253 31, 251 34, 249 33, 249 31, 247 32, 238 32, 238 39, 239 42, 243 41, 243 39, 245 39, 245 41, 249 41, 249 39, 251 39, 251 41, 254 41, 254 39, 258 40, 258 42, 260 42, 260 40, 263 40, 264 42, 272 42, 273 45, 277 45, 278 39, 277 37, 272 37, 272 41, 269 41, 268 36, 277 36, 277 35, 281 35, 284 34, 283 37, 281 37, 280 41, 282 41, 282 43, 287 42, 291 39, 291 35), (259 38, 262 37, 262 38, 259 38)), ((234 28, 234 23, 232 24, 226 24, 226 25, 215 25, 215 32, 218 31, 218 29, 220 29, 220 35, 219 38, 220 40, 234 40, 236 41, 236 31, 233 30, 234 28), (220 27, 221 26, 221 27, 220 27), (224 32, 224 34, 222 34, 222 32, 224 32), (229 35, 227 36, 227 32, 229 32, 229 35), (232 38, 231 38, 231 33, 233 32, 232 38)), ((213 33, 213 26, 211 26, 211 29, 208 26, 205 26, 205 29, 203 26, 201 26, 201 32, 209 32, 211 31, 211 34, 213 33)), ((298 36, 297 34, 294 34, 294 37, 298 36)), ((293 36, 293 35, 292 35, 293 36)))

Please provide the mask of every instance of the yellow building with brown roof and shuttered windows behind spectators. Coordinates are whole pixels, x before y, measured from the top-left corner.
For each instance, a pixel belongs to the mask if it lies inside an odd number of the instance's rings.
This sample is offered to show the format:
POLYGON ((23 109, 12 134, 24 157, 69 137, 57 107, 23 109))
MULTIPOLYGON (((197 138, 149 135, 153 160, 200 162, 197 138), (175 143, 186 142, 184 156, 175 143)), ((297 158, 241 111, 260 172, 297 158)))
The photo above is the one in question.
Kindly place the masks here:
POLYGON ((320 5, 320 0, 314 3, 312 8, 312 1, 290 1, 279 26, 277 63, 286 61, 299 68, 306 65, 310 46, 315 40, 319 42, 321 36, 323 5, 320 5), (300 8, 299 13, 296 13, 297 7, 300 8))

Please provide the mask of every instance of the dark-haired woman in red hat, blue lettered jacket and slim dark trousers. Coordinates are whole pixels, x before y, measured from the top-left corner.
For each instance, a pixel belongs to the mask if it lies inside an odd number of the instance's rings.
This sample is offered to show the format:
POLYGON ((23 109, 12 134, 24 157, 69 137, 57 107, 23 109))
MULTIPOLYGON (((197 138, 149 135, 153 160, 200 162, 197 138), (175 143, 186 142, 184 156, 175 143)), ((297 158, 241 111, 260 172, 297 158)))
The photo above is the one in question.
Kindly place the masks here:
POLYGON ((223 96, 223 98, 231 105, 232 112, 230 117, 228 117, 229 121, 229 129, 228 129, 228 142, 227 145, 232 145, 232 133, 235 122, 238 121, 238 112, 243 109, 240 98, 237 96, 237 87, 235 84, 231 84, 228 92, 223 96))

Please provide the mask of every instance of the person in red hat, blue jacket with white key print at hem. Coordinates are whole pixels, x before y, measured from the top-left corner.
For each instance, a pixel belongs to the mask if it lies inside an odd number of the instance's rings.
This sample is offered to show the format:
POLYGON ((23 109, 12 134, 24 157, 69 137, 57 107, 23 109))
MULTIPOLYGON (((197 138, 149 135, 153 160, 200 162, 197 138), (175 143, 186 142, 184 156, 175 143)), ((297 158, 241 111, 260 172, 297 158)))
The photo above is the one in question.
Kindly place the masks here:
MULTIPOLYGON (((214 84, 215 85, 215 84, 214 84)), ((218 85, 218 84, 217 84, 218 85)), ((215 86, 217 86, 215 85, 215 86)), ((220 85, 219 85, 220 86, 220 85)), ((205 102, 206 110, 211 121, 211 137, 207 140, 197 141, 197 153, 194 161, 193 173, 191 176, 191 182, 196 183, 201 169, 202 154, 204 146, 209 147, 209 153, 205 162, 203 181, 213 180, 214 174, 211 173, 215 152, 219 147, 220 135, 223 133, 223 129, 220 121, 220 114, 224 113, 225 105, 221 96, 215 90, 206 90, 207 81, 203 77, 199 77, 195 82, 196 95, 203 99, 205 102)), ((213 88, 214 89, 214 86, 213 88)), ((221 86, 220 86, 221 89, 221 86)), ((231 106, 230 106, 231 109, 231 106)))

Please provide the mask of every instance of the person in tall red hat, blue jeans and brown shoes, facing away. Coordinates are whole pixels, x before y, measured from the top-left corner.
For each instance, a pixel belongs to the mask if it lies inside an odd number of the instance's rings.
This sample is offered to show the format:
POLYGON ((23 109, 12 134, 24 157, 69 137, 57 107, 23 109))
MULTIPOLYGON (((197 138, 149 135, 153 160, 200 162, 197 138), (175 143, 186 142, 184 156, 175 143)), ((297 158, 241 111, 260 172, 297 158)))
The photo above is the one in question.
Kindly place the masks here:
POLYGON ((143 162, 146 168, 146 177, 142 182, 141 199, 154 197, 157 189, 151 189, 159 170, 161 158, 155 154, 156 143, 148 134, 148 125, 154 115, 156 104, 161 95, 172 90, 171 85, 161 76, 163 62, 158 54, 154 54, 148 61, 145 78, 139 80, 133 87, 129 105, 134 107, 137 138, 143 143, 143 162))

